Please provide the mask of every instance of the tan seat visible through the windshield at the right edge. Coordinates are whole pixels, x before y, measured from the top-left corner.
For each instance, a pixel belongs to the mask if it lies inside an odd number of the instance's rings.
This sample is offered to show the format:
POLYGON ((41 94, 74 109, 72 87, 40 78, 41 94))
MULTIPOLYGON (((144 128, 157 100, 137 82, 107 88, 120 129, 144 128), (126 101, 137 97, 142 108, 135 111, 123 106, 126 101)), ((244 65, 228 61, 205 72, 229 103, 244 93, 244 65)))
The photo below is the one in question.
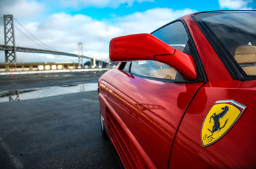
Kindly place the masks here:
POLYGON ((240 45, 236 47, 234 59, 241 65, 247 75, 256 75, 256 47, 253 45, 240 45), (249 64, 250 66, 246 66, 249 64))

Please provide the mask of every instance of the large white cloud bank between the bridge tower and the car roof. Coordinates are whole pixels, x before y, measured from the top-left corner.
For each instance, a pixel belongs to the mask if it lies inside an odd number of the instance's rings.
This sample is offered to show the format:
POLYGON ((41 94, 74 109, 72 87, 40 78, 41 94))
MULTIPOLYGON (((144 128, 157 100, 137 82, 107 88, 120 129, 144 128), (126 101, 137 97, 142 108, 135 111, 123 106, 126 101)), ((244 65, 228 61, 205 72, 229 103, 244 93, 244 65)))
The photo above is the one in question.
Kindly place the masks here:
MULTIPOLYGON (((154 8, 143 12, 132 13, 122 17, 113 17, 99 21, 86 15, 68 15, 55 13, 44 22, 22 23, 26 29, 42 42, 61 52, 77 54, 77 43, 83 42, 84 55, 101 59, 108 58, 109 41, 116 36, 134 33, 150 33, 158 27, 182 17, 194 10, 172 10, 169 8, 154 8)), ((24 31, 22 27, 20 30, 24 31)), ((25 31, 24 31, 25 32, 25 31)), ((26 33, 26 32, 25 32, 26 33)), ((21 47, 42 48, 29 40, 15 28, 16 45, 21 47)), ((19 62, 28 61, 74 61, 72 57, 59 57, 17 53, 19 62)), ((75 58, 77 61, 77 58, 75 58)))

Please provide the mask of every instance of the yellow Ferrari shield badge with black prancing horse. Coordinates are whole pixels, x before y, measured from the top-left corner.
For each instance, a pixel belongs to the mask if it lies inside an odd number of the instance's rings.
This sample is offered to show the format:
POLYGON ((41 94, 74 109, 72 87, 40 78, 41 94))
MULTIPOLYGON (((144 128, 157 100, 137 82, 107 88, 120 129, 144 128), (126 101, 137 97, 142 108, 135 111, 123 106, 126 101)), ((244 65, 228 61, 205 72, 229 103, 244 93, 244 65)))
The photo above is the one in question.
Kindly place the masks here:
POLYGON ((211 145, 224 136, 245 108, 234 100, 216 101, 204 119, 201 131, 202 145, 211 145))

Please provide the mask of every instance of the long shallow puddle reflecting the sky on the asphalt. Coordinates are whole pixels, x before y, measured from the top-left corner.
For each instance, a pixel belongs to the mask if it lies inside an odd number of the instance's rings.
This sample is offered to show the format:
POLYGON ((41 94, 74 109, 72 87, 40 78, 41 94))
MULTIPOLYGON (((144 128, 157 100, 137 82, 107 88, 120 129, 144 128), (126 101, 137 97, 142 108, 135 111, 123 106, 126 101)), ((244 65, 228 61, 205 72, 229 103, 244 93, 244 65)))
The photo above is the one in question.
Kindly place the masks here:
POLYGON ((79 85, 52 86, 33 89, 22 89, 19 91, 6 91, 0 93, 0 102, 19 101, 24 99, 45 98, 49 96, 58 96, 61 94, 70 94, 76 92, 97 91, 98 83, 88 83, 79 85))

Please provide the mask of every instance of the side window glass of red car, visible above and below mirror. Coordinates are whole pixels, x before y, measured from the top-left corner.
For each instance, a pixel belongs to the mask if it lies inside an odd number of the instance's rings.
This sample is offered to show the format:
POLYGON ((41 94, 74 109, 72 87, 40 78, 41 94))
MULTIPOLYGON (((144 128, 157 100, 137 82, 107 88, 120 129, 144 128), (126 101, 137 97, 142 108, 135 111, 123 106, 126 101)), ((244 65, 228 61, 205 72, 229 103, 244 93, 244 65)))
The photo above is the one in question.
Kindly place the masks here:
MULTIPOLYGON (((182 22, 173 22, 154 33, 159 40, 189 55, 193 55, 188 34, 182 22)), ((177 71, 172 67, 157 61, 132 61, 131 73, 150 78, 163 78, 174 80, 177 71)))

